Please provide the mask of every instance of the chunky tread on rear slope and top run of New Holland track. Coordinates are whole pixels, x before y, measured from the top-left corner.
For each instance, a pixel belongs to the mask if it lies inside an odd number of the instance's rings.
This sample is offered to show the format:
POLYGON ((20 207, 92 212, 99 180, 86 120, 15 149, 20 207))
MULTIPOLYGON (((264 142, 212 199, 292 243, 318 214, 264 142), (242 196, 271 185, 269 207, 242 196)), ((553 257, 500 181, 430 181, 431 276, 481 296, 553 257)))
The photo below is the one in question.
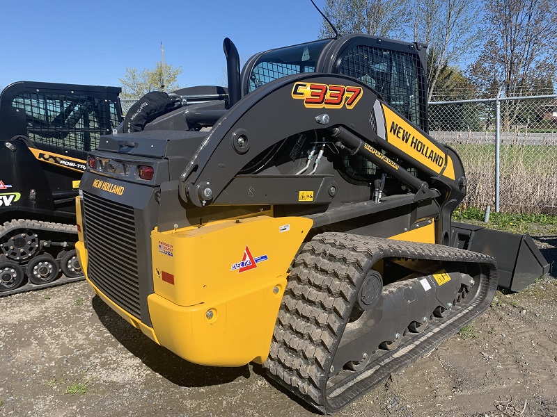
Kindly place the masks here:
MULTIPOLYGON (((327 404, 327 374, 361 280, 382 257, 492 262, 485 254, 453 247, 353 234, 325 233, 306 243, 288 278, 265 367, 320 411, 345 405, 327 404)), ((356 395, 369 388, 354 387, 361 391, 356 395)))

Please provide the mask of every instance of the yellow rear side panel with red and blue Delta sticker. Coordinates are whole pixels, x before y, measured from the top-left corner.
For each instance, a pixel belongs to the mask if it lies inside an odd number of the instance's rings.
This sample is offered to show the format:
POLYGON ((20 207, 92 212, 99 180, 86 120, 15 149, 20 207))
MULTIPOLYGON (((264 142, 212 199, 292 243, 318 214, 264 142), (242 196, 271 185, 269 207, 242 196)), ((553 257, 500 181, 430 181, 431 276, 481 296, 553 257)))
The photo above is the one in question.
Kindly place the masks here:
POLYGON ((261 215, 152 231, 148 305, 160 343, 203 365, 265 361, 288 267, 312 224, 261 215))

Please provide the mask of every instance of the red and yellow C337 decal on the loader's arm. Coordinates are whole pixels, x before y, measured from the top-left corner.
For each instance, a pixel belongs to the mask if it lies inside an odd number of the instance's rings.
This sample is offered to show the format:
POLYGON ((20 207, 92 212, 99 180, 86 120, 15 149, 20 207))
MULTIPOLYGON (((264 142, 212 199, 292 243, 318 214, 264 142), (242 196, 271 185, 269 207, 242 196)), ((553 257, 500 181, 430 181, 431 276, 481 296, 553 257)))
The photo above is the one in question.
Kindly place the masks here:
POLYGON ((295 83, 292 87, 292 98, 304 100, 308 108, 354 108, 362 95, 363 89, 353 85, 295 83))

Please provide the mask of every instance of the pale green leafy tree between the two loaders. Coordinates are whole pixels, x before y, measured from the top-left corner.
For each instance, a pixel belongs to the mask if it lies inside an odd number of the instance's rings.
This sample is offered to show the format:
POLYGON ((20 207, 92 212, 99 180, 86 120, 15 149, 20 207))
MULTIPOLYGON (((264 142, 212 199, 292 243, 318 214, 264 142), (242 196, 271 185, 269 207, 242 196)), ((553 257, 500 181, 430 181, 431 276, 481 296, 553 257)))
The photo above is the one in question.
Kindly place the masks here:
POLYGON ((182 67, 173 67, 171 64, 164 65, 157 63, 154 69, 143 68, 139 71, 136 68, 126 68, 126 74, 120 78, 122 83, 122 99, 138 99, 150 91, 164 90, 174 91, 180 88, 178 76, 182 74, 182 67), (166 85, 164 85, 166 79, 166 85))

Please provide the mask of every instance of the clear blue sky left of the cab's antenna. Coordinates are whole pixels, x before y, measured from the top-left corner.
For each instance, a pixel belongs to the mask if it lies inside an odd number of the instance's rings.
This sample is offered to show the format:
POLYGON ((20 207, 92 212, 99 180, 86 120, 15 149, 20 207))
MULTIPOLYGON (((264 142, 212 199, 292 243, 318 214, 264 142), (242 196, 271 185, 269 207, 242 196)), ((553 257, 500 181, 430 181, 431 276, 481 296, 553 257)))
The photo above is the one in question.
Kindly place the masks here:
MULTIPOLYGON (((314 0, 324 8, 324 0, 314 0)), ((218 84, 228 37, 240 56, 317 39, 309 0, 5 1, 0 86, 15 81, 120 85, 127 67, 181 65, 181 86, 218 84), (7 35, 9 34, 9 36, 7 35)))

